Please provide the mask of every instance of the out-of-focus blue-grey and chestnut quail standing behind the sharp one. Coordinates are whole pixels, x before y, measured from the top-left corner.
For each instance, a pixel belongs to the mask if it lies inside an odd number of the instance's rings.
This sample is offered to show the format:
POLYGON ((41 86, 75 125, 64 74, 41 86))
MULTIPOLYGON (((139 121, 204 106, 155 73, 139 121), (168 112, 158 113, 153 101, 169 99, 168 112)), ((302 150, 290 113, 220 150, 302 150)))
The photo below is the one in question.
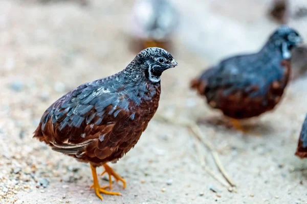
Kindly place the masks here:
POLYGON ((192 80, 191 88, 244 131, 237 119, 270 111, 280 101, 290 76, 291 50, 301 42, 297 31, 282 25, 258 53, 222 60, 192 80))

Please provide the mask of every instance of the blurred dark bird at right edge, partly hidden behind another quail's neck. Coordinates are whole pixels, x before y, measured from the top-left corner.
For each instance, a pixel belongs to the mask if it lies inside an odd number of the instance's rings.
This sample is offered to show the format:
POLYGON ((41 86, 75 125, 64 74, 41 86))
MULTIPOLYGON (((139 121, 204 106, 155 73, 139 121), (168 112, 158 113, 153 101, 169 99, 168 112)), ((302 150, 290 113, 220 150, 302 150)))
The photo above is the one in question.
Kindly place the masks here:
POLYGON ((307 71, 307 46, 302 45, 292 50, 291 79, 295 80, 307 71))

